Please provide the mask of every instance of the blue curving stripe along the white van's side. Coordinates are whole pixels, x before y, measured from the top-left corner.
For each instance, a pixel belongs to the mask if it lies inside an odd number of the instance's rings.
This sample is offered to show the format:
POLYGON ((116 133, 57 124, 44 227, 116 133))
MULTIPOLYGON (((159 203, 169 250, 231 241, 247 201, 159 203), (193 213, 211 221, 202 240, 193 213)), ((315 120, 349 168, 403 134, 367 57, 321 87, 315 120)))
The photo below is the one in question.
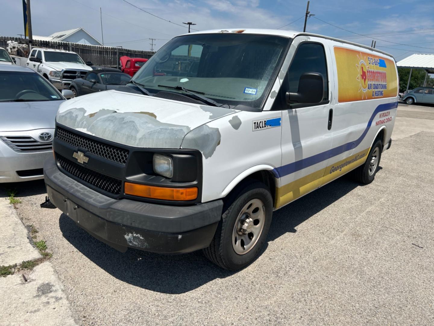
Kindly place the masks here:
POLYGON ((379 106, 377 106, 374 113, 372 113, 371 119, 369 119, 365 131, 363 131, 362 135, 358 137, 357 140, 332 148, 331 150, 326 150, 325 152, 306 157, 305 159, 298 160, 296 162, 277 167, 272 170, 274 176, 276 176, 277 178, 282 176, 287 176, 288 174, 294 173, 302 169, 306 169, 306 167, 328 160, 333 156, 342 154, 347 150, 352 150, 353 148, 357 147, 360 143, 362 143, 362 140, 365 138, 369 128, 371 127, 372 121, 374 120, 375 116, 378 113, 382 111, 395 109, 396 107, 398 107, 398 102, 380 104, 379 106))

